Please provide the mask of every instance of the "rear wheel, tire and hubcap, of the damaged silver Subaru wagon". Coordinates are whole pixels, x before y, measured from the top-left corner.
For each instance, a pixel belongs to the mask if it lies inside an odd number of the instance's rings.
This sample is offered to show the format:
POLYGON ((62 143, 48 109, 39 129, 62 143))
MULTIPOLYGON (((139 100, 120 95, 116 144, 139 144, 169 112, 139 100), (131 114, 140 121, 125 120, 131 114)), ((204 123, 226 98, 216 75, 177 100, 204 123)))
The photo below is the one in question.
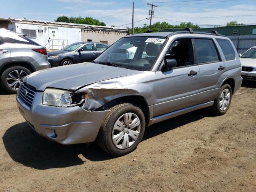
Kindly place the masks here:
POLYGON ((232 89, 229 84, 224 84, 220 88, 218 95, 214 100, 213 106, 210 107, 210 110, 216 115, 224 115, 228 111, 231 100, 232 100, 232 89), (224 94, 224 98, 222 93, 224 94), (228 104, 227 104, 227 101, 228 101, 228 104))

